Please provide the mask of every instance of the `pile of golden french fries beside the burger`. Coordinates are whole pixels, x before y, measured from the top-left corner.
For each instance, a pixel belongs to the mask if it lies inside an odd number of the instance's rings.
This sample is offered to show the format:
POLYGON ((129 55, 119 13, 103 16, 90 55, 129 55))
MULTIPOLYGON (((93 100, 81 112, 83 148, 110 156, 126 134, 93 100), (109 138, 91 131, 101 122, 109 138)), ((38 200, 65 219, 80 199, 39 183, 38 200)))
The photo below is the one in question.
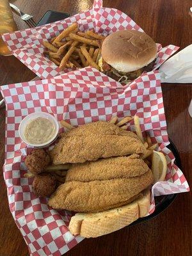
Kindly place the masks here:
POLYGON ((77 23, 73 23, 60 35, 44 41, 44 55, 60 67, 83 68, 92 66, 99 70, 100 41, 105 36, 98 35, 93 30, 81 32, 77 23))

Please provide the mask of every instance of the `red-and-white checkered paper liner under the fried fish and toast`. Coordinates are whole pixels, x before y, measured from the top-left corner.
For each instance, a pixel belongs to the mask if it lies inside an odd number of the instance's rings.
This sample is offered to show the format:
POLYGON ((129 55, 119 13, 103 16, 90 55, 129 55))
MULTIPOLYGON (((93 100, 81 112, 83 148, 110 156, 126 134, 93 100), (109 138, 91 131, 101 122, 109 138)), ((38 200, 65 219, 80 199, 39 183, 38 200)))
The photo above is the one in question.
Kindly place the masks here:
MULTIPOLYGON (((155 209, 154 195, 189 191, 188 182, 166 147, 169 141, 158 71, 143 74, 129 86, 122 87, 98 70, 87 67, 52 79, 4 85, 1 93, 6 102, 4 180, 8 202, 31 255, 60 256, 83 237, 74 237, 68 230, 72 214, 51 209, 46 198, 33 194, 33 179, 24 178, 27 172, 24 159, 31 148, 20 140, 18 128, 29 113, 45 111, 76 127, 109 120, 113 115, 118 118, 138 115, 143 136, 147 131, 152 142, 159 143, 158 150, 165 154, 168 163, 166 181, 152 187, 149 213, 155 209)), ((129 129, 134 131, 133 121, 129 129)))

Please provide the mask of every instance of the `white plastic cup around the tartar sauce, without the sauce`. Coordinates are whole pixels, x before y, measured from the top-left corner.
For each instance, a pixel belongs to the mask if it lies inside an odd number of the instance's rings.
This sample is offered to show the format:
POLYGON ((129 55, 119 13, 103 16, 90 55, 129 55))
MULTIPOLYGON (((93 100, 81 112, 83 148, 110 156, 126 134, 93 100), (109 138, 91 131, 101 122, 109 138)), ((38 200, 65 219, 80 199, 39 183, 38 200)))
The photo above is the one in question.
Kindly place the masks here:
POLYGON ((24 141, 24 143, 26 143, 27 145, 29 145, 30 147, 34 147, 34 148, 44 148, 44 147, 47 147, 49 146, 54 140, 56 140, 57 136, 58 136, 58 132, 59 132, 59 129, 60 129, 60 125, 58 124, 58 121, 56 120, 56 118, 54 118, 54 116, 52 116, 51 114, 49 113, 46 113, 46 112, 35 112, 35 113, 31 113, 29 114, 28 116, 26 116, 21 122, 20 122, 20 125, 19 125, 19 136, 20 136, 20 139, 22 141, 24 141), (38 117, 42 117, 42 118, 46 118, 48 119, 49 121, 52 122, 52 124, 54 125, 55 127, 55 134, 54 136, 52 136, 51 140, 47 141, 46 143, 42 143, 42 144, 33 144, 33 143, 30 143, 26 137, 24 136, 24 131, 26 129, 26 125, 29 124, 29 122, 31 122, 32 120, 38 118, 38 117))

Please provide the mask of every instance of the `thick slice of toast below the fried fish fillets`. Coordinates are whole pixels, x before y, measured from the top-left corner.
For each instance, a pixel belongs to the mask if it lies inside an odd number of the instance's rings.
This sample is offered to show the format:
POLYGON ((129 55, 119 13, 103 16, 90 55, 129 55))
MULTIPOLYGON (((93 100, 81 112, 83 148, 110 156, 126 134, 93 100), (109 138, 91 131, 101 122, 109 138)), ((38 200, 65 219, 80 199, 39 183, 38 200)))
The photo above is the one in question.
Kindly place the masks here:
POLYGON ((144 217, 150 208, 150 191, 143 192, 131 204, 97 213, 76 213, 69 223, 73 235, 98 237, 123 228, 144 217), (143 194, 143 195, 142 195, 143 194))

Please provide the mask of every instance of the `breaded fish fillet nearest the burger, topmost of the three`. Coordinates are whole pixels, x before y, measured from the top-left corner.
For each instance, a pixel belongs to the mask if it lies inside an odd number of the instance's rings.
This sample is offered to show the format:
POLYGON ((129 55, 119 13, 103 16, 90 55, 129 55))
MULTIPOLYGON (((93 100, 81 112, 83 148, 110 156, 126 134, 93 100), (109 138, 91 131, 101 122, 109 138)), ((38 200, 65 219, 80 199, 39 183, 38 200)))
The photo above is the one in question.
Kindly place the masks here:
POLYGON ((111 156, 143 154, 145 150, 134 132, 108 122, 94 122, 65 132, 50 156, 53 164, 84 163, 111 156))

